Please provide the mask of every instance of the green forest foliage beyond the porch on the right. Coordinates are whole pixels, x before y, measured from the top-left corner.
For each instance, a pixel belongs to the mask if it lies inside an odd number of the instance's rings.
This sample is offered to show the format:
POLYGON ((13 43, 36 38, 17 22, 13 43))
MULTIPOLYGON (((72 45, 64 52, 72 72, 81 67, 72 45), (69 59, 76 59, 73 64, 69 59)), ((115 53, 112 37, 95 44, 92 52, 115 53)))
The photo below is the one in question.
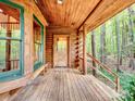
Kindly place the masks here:
MULTIPOLYGON (((111 62, 111 66, 113 64, 113 67, 116 67, 116 64, 120 63, 118 60, 122 59, 123 64, 126 64, 127 67, 128 61, 126 60, 128 60, 130 55, 133 55, 133 53, 135 53, 135 4, 123 10, 121 13, 107 21, 103 25, 106 25, 106 31, 105 31, 106 46, 103 46, 106 51, 103 51, 105 52, 103 54, 108 56, 108 59, 109 58, 113 59, 113 61, 111 62), (115 23, 115 20, 118 20, 118 23, 115 23), (118 38, 119 38, 119 42, 116 40, 118 38)), ((96 58, 98 60, 100 60, 101 56, 101 52, 100 52, 101 41, 102 41, 100 36, 102 34, 102 30, 100 30, 101 27, 102 25, 100 25, 99 27, 93 30, 95 31, 95 37, 96 37, 95 47, 96 47, 96 58)), ((87 52, 91 53, 90 34, 91 33, 87 35, 87 52)), ((108 72, 102 70, 100 71, 112 80, 114 79, 110 74, 108 74, 108 72)), ((135 75, 131 75, 123 72, 119 73, 119 75, 120 75, 120 84, 122 86, 123 91, 125 92, 124 96, 122 97, 122 100, 135 101, 135 75)))

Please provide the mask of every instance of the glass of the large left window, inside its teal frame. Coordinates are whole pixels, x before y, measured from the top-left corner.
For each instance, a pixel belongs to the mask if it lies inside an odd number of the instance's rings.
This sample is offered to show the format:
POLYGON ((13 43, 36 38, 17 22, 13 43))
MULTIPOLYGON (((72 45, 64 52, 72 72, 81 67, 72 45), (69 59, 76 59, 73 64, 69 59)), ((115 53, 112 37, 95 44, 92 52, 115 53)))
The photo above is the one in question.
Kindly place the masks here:
POLYGON ((0 72, 20 70, 20 9, 0 2, 0 72))

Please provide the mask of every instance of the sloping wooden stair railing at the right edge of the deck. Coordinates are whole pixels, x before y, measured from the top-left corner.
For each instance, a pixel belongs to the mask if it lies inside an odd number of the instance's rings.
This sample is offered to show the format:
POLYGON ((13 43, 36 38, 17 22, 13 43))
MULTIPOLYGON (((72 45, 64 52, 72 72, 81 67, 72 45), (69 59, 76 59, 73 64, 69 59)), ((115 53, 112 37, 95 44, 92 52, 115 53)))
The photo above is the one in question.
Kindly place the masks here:
POLYGON ((106 76, 102 72, 98 70, 98 67, 91 66, 93 70, 97 71, 100 75, 102 75, 105 78, 107 78, 110 83, 113 84, 115 87, 115 91, 120 90, 120 78, 116 73, 114 73, 112 70, 110 70, 107 65, 102 64, 100 61, 98 61, 96 58, 94 58, 91 54, 87 53, 87 56, 93 60, 96 64, 98 64, 101 70, 106 71, 108 74, 114 77, 114 79, 110 79, 108 76, 106 76))

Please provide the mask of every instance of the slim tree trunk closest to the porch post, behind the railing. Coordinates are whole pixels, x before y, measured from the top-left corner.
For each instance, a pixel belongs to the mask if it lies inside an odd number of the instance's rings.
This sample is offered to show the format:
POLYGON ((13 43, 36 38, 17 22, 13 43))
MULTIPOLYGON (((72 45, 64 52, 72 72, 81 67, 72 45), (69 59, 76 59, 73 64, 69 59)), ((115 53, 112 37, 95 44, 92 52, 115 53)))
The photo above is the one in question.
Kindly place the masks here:
MULTIPOLYGON (((94 30, 91 31, 91 53, 93 56, 96 58, 96 48, 95 48, 96 43, 95 43, 95 33, 94 30)), ((96 63, 93 61, 93 66, 96 67, 96 63)), ((93 70, 93 75, 96 76, 96 71, 93 70)))

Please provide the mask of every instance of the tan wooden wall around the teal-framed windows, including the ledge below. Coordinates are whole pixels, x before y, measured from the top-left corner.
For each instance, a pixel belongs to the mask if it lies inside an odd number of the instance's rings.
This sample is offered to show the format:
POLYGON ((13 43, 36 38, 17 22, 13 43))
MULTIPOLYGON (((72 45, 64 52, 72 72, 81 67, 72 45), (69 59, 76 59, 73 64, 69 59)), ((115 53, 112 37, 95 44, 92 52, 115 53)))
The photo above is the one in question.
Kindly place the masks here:
MULTIPOLYGON (((7 0, 5 0, 7 1, 7 0)), ((9 2, 9 1, 7 1, 9 2)), ((46 26, 47 22, 33 0, 10 0, 24 8, 24 75, 20 79, 0 83, 0 93, 8 92, 19 87, 25 86, 30 80, 34 73, 34 15, 44 25, 44 54, 46 53, 46 26)), ((1 97, 2 94, 0 94, 1 97)), ((4 101, 4 100, 0 100, 4 101)))

